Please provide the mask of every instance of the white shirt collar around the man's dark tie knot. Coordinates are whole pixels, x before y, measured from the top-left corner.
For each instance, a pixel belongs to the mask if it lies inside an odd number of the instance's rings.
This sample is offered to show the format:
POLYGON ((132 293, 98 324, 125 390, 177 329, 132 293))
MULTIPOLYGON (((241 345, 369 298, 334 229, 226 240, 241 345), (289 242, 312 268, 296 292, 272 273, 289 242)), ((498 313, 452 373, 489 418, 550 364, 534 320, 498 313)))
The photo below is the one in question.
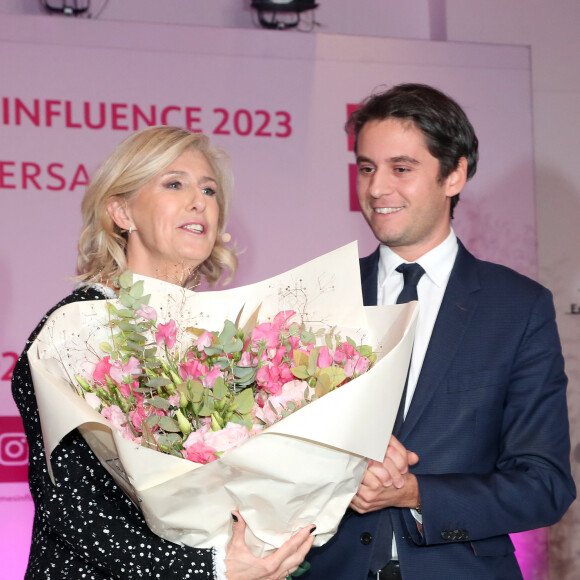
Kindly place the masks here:
MULTIPOLYGON (((457 250, 457 236, 451 228, 449 235, 443 242, 421 256, 418 260, 415 260, 415 262, 423 267, 425 273, 434 284, 441 287, 449 280, 453 264, 455 263, 455 257, 457 256, 457 250)), ((393 275, 395 268, 405 262, 405 260, 393 252, 391 248, 383 244, 380 245, 379 251, 378 284, 381 286, 393 275)))

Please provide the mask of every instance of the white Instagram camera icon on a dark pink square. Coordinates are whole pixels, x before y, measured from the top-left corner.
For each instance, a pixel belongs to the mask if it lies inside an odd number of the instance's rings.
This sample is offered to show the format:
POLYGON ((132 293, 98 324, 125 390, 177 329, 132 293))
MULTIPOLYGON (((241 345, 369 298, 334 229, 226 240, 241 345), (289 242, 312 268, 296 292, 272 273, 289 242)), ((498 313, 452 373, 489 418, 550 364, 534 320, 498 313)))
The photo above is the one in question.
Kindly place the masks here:
POLYGON ((0 482, 28 479, 28 443, 20 417, 0 417, 0 482))

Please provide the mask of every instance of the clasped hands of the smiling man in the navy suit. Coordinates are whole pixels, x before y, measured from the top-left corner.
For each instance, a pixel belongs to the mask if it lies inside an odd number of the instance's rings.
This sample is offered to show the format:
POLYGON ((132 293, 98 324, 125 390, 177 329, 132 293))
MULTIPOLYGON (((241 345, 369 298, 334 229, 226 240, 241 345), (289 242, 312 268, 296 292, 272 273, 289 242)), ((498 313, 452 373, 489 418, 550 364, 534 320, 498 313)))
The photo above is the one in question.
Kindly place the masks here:
POLYGON ((364 514, 385 507, 415 507, 419 505, 417 478, 409 473, 419 457, 391 436, 382 463, 370 461, 360 488, 350 507, 364 514))

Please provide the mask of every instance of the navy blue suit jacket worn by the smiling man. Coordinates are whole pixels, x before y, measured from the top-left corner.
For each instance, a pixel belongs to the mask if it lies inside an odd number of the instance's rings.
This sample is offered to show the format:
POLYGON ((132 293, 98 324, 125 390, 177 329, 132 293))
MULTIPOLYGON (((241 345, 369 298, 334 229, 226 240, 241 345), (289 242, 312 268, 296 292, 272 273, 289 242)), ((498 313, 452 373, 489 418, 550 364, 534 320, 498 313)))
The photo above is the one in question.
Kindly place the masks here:
MULTIPOLYGON (((379 251, 361 260, 377 302, 379 251)), ((564 361, 551 293, 459 252, 399 439, 419 455, 423 534, 388 508, 404 580, 521 578, 508 533, 573 501, 564 361)), ((384 510, 381 510, 383 512, 384 510)), ((366 580, 381 512, 348 511, 304 580, 366 580)))

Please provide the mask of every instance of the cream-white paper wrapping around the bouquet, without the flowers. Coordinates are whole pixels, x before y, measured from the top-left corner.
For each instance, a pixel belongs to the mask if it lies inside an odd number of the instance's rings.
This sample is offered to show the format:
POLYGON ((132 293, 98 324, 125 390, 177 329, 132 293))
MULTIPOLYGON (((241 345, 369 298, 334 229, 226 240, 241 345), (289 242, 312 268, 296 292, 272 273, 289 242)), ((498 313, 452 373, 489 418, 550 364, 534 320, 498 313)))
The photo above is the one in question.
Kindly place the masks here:
POLYGON ((70 304, 53 313, 28 351, 47 458, 79 428, 149 527, 174 542, 225 545, 237 508, 256 555, 308 524, 317 526, 315 545, 324 544, 359 487, 365 458, 382 461, 385 455, 409 367, 417 303, 363 307, 356 243, 232 290, 195 293, 144 280, 160 322, 171 317, 180 328, 220 330, 242 307, 249 316, 261 304, 260 321, 292 309, 307 325, 348 329, 343 337, 373 345, 379 360, 354 381, 200 466, 123 439, 76 394, 71 378, 79 371, 90 375, 96 358, 87 353, 99 353, 107 339, 107 311, 105 301, 70 304))

